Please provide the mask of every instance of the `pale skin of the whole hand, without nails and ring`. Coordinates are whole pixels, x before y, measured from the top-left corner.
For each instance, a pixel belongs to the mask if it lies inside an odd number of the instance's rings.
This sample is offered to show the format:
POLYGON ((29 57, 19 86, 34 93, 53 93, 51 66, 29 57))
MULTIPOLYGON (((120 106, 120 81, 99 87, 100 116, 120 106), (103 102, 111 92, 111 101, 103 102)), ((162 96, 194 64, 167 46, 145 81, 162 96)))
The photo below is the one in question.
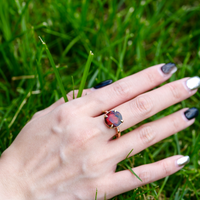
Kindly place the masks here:
POLYGON ((104 124, 103 111, 116 109, 124 123, 121 131, 192 96, 187 78, 152 90, 171 75, 160 67, 147 68, 81 98, 60 99, 36 113, 0 158, 0 199, 91 200, 107 199, 169 176, 182 167, 182 155, 115 172, 116 165, 194 123, 186 108, 112 140, 115 129, 104 124), (142 80, 142 81, 141 81, 142 80), (149 91, 151 90, 151 91, 149 91))

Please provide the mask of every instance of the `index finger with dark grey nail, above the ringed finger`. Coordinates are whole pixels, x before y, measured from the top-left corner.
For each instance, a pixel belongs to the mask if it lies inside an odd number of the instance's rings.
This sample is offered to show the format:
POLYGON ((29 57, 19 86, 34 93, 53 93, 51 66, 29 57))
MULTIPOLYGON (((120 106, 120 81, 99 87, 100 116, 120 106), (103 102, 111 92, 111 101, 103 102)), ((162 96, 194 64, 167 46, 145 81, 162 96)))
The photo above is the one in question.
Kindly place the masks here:
POLYGON ((98 116, 112 108, 160 85, 177 70, 175 64, 159 64, 123 78, 82 99, 87 113, 98 116))

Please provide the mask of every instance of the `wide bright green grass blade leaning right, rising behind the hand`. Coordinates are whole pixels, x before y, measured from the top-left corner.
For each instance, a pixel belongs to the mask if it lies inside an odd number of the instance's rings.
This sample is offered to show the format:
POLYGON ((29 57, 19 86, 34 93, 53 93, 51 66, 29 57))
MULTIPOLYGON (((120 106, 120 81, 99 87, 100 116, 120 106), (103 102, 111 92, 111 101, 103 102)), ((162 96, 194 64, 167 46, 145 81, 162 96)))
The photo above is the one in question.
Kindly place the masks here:
POLYGON ((84 69, 84 72, 83 72, 83 77, 81 79, 81 84, 80 84, 80 87, 79 87, 79 90, 78 90, 77 98, 81 97, 81 95, 82 95, 83 89, 85 87, 85 82, 86 82, 86 79, 88 77, 88 73, 89 73, 89 70, 90 70, 90 65, 91 65, 93 56, 94 56, 94 54, 90 51, 89 56, 88 56, 88 60, 87 60, 87 63, 85 65, 85 69, 84 69))

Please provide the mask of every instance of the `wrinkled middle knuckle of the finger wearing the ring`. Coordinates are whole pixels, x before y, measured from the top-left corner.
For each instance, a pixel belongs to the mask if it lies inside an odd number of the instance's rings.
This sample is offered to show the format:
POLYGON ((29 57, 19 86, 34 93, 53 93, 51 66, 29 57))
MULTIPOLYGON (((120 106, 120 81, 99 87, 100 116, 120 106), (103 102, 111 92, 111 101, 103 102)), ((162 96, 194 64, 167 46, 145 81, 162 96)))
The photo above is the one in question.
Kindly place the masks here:
POLYGON ((152 100, 149 97, 146 97, 146 95, 138 96, 135 103, 137 110, 142 115, 149 114, 153 108, 152 100))

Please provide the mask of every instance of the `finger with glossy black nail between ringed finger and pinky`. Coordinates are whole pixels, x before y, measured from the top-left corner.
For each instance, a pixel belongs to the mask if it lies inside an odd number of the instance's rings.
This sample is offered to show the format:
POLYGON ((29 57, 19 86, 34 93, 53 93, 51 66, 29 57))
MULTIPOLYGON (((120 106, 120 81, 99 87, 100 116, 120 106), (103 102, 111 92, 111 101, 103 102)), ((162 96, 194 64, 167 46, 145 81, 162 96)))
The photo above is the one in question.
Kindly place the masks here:
POLYGON ((110 148, 115 149, 116 162, 123 160, 133 149, 130 156, 137 154, 145 148, 177 133, 194 123, 198 115, 196 108, 182 109, 167 117, 147 123, 139 128, 110 142, 110 148))

